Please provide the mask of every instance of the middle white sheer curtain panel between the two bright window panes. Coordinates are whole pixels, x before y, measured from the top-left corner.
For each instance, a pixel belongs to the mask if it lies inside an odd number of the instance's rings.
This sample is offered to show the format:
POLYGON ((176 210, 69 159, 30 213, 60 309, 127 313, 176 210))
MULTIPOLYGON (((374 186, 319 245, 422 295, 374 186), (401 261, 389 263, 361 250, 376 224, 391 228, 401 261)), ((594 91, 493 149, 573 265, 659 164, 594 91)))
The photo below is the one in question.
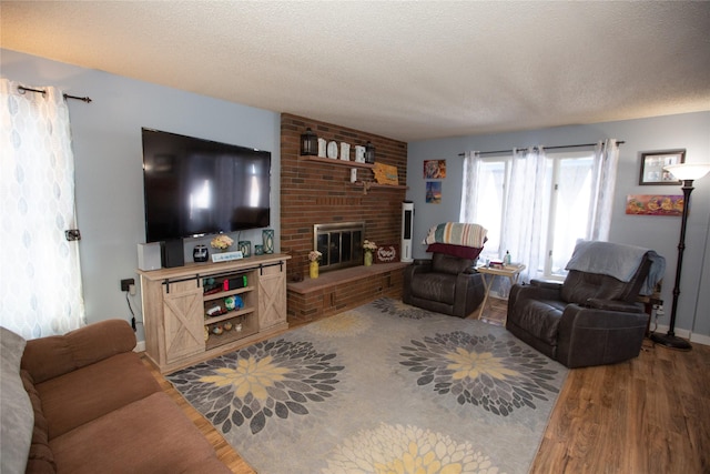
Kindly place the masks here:
POLYGON ((509 251, 515 262, 527 266, 524 280, 540 278, 544 268, 540 239, 546 233, 545 150, 530 147, 514 150, 506 188, 506 210, 500 232, 500 252, 509 251))

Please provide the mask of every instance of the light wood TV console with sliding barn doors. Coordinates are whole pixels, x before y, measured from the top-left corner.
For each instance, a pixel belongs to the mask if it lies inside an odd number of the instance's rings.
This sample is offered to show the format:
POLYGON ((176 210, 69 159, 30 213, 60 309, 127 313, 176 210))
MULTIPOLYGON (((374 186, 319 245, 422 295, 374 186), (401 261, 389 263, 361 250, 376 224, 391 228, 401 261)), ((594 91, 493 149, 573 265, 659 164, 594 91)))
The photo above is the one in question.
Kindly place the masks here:
POLYGON ((139 270, 145 354, 161 373, 288 329, 287 254, 139 270))

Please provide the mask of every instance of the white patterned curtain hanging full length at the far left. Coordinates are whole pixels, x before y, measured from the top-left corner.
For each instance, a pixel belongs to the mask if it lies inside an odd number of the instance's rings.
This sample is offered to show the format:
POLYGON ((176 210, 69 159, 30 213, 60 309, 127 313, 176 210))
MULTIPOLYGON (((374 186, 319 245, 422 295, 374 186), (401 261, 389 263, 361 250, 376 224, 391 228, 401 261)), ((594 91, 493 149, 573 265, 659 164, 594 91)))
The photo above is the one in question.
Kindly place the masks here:
POLYGON ((57 88, 0 80, 0 324, 26 339, 85 324, 69 110, 57 88), (32 88, 36 89, 36 88, 32 88))

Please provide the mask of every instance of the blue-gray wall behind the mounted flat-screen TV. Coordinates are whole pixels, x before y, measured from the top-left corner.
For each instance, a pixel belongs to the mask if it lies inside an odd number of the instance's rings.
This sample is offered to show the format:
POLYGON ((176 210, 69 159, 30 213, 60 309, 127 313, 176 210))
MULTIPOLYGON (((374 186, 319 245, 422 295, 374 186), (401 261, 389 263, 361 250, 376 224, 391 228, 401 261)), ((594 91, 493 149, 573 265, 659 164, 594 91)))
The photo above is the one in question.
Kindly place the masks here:
MULTIPOLYGON (((110 317, 131 319, 120 281, 133 278, 139 283, 136 245, 145 242, 142 127, 271 151, 271 226, 278 245, 278 113, 9 50, 0 50, 0 65, 7 79, 29 87, 57 85, 65 93, 93 100, 90 104, 68 102, 82 235, 81 271, 90 323, 110 317)), ((242 232, 241 240, 261 243, 261 231, 242 232)), ((185 243, 185 261, 192 261, 195 243, 200 242, 185 243)), ((140 293, 131 302, 142 321, 140 293)), ((144 339, 140 325, 138 339, 144 339)))

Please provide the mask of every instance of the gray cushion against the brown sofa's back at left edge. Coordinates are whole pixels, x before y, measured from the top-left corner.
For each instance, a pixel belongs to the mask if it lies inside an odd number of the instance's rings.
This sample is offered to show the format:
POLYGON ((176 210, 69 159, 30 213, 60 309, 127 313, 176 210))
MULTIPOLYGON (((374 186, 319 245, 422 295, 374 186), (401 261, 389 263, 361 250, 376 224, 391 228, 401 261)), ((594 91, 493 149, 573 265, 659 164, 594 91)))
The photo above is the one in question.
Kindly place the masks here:
POLYGON ((0 472, 3 473, 24 472, 32 443, 32 403, 20 377, 20 360, 24 345, 22 336, 0 327, 0 472))

